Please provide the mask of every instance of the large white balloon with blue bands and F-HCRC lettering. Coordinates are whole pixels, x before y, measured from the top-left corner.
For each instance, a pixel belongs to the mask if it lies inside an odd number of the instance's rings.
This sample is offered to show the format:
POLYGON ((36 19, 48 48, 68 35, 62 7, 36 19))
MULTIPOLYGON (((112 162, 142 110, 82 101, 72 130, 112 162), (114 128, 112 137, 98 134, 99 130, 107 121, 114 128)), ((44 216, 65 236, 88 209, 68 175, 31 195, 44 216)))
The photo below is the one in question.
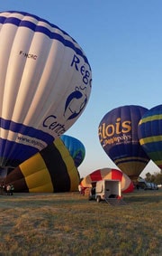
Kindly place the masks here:
POLYGON ((0 166, 18 166, 70 128, 91 92, 91 67, 58 26, 0 13, 0 166))

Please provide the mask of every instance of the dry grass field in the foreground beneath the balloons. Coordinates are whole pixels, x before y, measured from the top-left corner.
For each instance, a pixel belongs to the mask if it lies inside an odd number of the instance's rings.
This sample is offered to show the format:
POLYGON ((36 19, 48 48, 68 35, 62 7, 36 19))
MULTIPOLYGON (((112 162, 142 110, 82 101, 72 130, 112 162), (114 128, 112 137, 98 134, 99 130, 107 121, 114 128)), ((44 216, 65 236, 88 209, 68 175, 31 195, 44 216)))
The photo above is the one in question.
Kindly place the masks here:
POLYGON ((162 255, 162 189, 111 206, 78 193, 0 195, 0 255, 162 255))

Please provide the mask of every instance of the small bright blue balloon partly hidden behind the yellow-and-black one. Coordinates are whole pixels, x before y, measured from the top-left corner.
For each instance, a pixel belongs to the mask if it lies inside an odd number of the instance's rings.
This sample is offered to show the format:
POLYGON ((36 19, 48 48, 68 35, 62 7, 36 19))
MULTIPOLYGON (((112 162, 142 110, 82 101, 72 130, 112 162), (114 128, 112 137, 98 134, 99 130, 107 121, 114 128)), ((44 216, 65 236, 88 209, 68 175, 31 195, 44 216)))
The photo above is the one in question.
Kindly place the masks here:
POLYGON ((60 138, 73 157, 76 167, 80 166, 85 158, 85 146, 76 137, 61 135, 60 138))

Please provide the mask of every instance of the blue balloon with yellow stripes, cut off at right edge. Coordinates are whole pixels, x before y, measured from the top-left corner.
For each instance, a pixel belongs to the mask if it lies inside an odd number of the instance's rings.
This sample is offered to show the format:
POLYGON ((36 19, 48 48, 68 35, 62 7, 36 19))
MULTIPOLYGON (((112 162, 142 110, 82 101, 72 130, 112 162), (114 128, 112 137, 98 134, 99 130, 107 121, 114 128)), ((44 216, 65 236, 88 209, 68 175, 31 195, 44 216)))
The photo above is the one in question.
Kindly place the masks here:
POLYGON ((140 119, 139 143, 150 159, 162 168, 162 105, 149 109, 140 119))

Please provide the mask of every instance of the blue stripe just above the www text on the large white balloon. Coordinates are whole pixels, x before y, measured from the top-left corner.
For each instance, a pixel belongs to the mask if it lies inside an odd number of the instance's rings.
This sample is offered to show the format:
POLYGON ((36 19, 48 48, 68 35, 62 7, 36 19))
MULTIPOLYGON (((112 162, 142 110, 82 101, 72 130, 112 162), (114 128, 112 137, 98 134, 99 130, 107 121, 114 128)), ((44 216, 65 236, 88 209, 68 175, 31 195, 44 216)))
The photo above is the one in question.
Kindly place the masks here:
POLYGON ((31 128, 20 123, 16 123, 12 120, 5 120, 0 118, 0 128, 6 130, 11 130, 15 133, 21 133, 24 136, 35 137, 42 141, 45 141, 47 144, 52 143, 54 137, 49 135, 46 132, 41 131, 40 129, 31 128))

